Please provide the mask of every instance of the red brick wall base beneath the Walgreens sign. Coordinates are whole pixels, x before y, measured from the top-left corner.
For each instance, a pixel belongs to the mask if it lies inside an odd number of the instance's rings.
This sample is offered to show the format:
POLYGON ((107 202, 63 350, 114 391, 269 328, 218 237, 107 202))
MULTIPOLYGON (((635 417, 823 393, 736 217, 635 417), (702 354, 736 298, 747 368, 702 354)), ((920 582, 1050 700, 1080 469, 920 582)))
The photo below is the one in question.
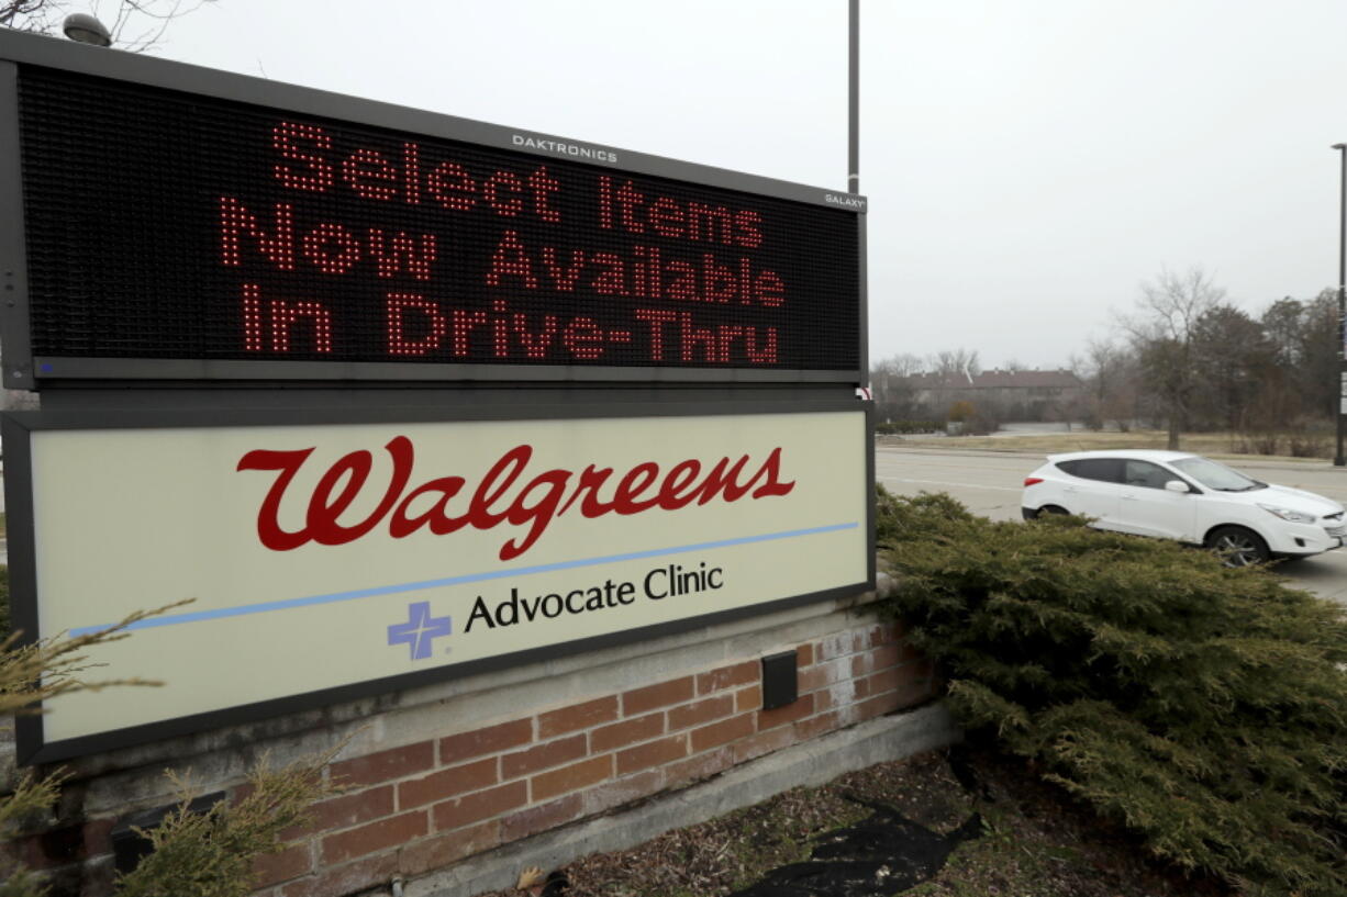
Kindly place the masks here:
POLYGON ((757 657, 341 761, 350 792, 259 865, 265 897, 338 897, 680 788, 927 700, 892 625, 796 646, 799 700, 761 710, 757 657))

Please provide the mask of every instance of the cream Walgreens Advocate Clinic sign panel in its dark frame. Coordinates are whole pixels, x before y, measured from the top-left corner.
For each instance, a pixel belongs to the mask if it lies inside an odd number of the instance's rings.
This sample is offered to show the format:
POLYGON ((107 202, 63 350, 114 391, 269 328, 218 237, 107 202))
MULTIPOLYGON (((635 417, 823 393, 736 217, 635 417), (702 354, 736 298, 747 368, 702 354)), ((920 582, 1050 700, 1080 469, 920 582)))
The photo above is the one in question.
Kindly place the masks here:
POLYGON ((19 616, 78 636, 193 599, 92 652, 106 677, 163 687, 53 702, 26 746, 55 758, 854 593, 873 582, 866 413, 828 405, 113 430, 11 416, 7 454, 23 448, 7 462, 35 512, 11 533, 19 616))

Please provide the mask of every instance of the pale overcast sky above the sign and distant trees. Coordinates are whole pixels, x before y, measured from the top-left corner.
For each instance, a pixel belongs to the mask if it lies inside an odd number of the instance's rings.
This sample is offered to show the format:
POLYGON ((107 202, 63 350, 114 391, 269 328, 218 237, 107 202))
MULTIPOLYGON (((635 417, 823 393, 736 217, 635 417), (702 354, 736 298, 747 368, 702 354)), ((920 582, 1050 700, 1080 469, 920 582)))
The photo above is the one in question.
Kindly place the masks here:
MULTIPOLYGON (((846 0, 217 0, 159 55, 846 186, 846 0)), ((865 0, 870 354, 1065 365, 1161 268, 1336 286, 1347 0, 865 0)))

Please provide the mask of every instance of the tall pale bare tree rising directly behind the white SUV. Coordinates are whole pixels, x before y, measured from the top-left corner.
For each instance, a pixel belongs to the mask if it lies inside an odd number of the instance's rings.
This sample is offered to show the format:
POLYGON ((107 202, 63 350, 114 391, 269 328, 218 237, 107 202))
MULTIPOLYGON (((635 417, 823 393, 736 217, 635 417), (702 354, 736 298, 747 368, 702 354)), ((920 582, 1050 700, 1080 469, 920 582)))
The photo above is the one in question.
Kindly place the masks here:
POLYGON ((1119 318, 1141 362, 1146 387, 1160 400, 1168 419, 1172 450, 1188 422, 1200 377, 1193 352, 1199 322, 1226 298, 1202 268, 1179 275, 1162 269, 1141 284, 1137 314, 1119 318))

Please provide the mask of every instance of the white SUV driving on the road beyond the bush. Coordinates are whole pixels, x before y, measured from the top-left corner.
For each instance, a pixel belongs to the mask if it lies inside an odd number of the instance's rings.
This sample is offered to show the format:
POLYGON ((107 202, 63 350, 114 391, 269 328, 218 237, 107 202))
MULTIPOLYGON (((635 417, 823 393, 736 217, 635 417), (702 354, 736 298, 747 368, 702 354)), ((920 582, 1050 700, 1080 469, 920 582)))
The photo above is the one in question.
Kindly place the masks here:
POLYGON ((1343 506, 1312 492, 1259 482, 1183 451, 1048 455, 1024 481, 1025 519, 1071 513, 1091 525, 1215 550, 1231 567, 1273 555, 1340 548, 1343 506))

